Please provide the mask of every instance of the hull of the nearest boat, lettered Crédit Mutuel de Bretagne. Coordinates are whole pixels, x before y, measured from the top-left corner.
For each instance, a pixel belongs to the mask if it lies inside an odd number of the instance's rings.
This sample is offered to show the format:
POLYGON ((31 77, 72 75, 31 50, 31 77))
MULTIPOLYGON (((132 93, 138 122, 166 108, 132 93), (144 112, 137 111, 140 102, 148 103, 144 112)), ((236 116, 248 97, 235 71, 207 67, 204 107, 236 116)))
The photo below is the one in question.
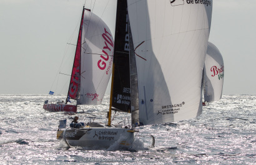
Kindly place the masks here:
POLYGON ((109 148, 117 143, 129 147, 134 141, 134 130, 129 128, 66 128, 62 133, 58 133, 61 135, 57 138, 62 136, 69 146, 109 148))

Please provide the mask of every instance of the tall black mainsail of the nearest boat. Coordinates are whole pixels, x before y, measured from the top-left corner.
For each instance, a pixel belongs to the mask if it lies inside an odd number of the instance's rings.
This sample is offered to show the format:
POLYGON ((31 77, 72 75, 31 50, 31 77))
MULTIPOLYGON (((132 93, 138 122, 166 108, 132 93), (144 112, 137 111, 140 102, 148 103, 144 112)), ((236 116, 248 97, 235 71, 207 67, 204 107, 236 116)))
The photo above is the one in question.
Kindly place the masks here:
POLYGON ((129 17, 126 0, 117 1, 112 110, 130 113, 129 17))

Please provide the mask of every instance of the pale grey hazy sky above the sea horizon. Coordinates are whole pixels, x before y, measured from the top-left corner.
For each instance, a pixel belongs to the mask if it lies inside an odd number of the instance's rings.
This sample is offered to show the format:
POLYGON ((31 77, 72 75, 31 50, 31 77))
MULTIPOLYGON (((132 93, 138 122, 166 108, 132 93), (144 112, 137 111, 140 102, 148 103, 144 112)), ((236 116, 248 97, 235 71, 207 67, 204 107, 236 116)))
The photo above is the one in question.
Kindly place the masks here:
MULTIPOLYGON (((67 43, 76 44, 84 2, 0 0, 0 94, 67 92, 69 78, 59 72, 71 73, 75 47, 67 43)), ((114 34, 116 0, 86 7, 114 34)), ((255 9, 255 0, 213 1, 209 41, 224 58, 224 95, 256 94, 255 9)))

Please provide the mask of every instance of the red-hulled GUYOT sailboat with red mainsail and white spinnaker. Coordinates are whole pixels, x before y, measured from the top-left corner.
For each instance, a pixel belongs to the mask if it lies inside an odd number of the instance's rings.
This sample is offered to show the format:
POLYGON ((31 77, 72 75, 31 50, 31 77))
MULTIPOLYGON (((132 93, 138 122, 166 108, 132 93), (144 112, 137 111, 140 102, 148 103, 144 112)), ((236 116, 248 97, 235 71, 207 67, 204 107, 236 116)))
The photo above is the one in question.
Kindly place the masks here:
POLYGON ((99 105, 104 97, 112 73, 114 39, 109 27, 99 18, 87 26, 88 20, 84 20, 86 11, 82 11, 66 101, 48 103, 46 100, 45 110, 76 112, 77 105, 99 105), (101 27, 92 26, 99 23, 102 23, 101 27), (69 98, 76 104, 70 104, 69 98))

